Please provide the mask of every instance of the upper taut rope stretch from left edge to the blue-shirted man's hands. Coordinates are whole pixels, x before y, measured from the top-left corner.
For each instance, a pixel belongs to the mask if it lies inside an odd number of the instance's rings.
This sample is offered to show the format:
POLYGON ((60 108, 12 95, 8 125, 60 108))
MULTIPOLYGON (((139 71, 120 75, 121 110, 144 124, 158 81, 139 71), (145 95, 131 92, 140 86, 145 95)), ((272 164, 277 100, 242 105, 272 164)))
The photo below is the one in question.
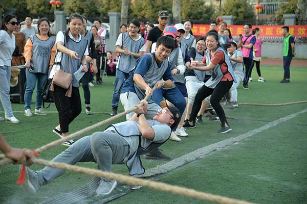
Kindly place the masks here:
MULTIPOLYGON (((155 91, 155 90, 156 90, 156 86, 152 88, 152 92, 155 91)), ((146 95, 146 97, 144 99, 147 100, 149 98, 149 96, 150 95, 146 95)), ((107 123, 109 123, 109 122, 111 122, 113 120, 116 120, 116 119, 118 119, 118 118, 120 118, 122 116, 125 116, 126 114, 132 113, 132 112, 134 112, 136 110, 138 110, 138 108, 136 108, 136 107, 131 108, 129 110, 126 110, 126 111, 124 111, 122 113, 119 113, 119 114, 117 114, 115 116, 112 116, 111 118, 105 119, 105 120, 103 120, 101 122, 98 122, 98 123, 93 124, 91 126, 85 127, 84 129, 79 130, 79 131, 77 131, 77 132, 75 132, 75 133, 73 133, 73 134, 71 134, 71 135, 69 135, 67 137, 63 137, 61 139, 55 140, 53 142, 50 142, 49 144, 43 145, 43 146, 35 149, 35 151, 38 154, 40 154, 41 152, 43 152, 45 150, 51 149, 53 147, 56 147, 56 146, 62 144, 63 142, 67 142, 67 141, 69 141, 69 140, 71 140, 71 139, 73 139, 75 137, 81 136, 84 133, 90 132, 90 131, 92 131, 92 130, 94 130, 94 129, 96 129, 96 128, 104 125, 104 124, 107 124, 107 123)), ((2 156, 2 155, 0 155, 0 156, 2 156)), ((2 160, 0 160, 0 166, 5 166, 5 165, 8 165, 8 164, 11 164, 11 163, 14 162, 13 160, 6 158, 4 155, 2 157, 0 157, 0 159, 2 159, 2 160)))

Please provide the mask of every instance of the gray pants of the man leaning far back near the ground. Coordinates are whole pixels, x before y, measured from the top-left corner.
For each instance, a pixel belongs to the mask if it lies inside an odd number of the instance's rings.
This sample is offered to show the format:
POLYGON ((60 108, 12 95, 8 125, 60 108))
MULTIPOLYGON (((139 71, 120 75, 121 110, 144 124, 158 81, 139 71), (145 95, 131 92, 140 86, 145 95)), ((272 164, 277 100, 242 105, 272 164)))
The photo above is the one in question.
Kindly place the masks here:
MULTIPOLYGON (((76 164, 77 162, 96 162, 98 169, 111 171, 112 164, 124 163, 129 154, 129 144, 114 132, 96 132, 92 136, 85 136, 61 154, 52 162, 76 164)), ((36 171, 40 186, 49 184, 65 171, 52 167, 45 167, 36 171)))

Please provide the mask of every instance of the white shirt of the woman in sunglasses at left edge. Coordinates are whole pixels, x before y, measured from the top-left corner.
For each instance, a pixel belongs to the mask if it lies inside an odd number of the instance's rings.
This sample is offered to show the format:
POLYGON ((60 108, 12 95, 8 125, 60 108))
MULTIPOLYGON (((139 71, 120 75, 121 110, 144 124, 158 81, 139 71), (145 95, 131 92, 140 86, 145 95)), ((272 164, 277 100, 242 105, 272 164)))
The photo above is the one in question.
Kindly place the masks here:
POLYGON ((11 66, 15 50, 15 36, 12 38, 5 30, 0 30, 0 66, 11 66))

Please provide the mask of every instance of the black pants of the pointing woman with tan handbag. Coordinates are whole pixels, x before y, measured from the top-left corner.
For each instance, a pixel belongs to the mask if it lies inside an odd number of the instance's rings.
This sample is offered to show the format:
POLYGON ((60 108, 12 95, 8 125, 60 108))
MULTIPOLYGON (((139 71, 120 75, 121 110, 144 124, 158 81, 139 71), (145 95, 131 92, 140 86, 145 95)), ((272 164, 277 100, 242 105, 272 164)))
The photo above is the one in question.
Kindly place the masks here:
POLYGON ((62 133, 69 132, 69 124, 81 113, 79 88, 73 87, 72 96, 65 96, 67 90, 54 85, 54 103, 59 114, 62 133))

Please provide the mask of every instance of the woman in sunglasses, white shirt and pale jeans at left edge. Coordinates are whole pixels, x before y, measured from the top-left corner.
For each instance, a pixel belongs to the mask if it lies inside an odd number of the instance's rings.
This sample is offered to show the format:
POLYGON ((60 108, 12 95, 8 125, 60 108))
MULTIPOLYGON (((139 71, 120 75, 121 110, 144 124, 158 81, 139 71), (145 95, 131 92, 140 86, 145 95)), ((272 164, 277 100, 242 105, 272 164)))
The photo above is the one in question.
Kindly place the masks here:
POLYGON ((19 122, 13 115, 10 101, 11 61, 15 50, 13 31, 17 31, 18 24, 16 16, 6 15, 0 29, 0 108, 3 106, 5 120, 12 123, 19 122))

